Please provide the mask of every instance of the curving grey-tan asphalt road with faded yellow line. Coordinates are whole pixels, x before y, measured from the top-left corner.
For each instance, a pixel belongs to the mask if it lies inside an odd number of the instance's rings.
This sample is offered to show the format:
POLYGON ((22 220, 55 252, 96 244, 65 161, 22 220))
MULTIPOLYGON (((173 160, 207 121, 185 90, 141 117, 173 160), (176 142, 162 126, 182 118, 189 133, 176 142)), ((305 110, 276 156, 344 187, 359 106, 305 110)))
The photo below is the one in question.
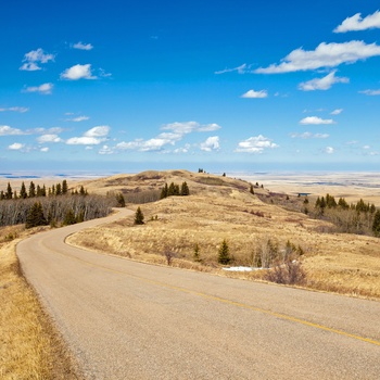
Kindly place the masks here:
POLYGON ((160 267, 64 243, 17 245, 87 379, 380 379, 380 303, 160 267))

